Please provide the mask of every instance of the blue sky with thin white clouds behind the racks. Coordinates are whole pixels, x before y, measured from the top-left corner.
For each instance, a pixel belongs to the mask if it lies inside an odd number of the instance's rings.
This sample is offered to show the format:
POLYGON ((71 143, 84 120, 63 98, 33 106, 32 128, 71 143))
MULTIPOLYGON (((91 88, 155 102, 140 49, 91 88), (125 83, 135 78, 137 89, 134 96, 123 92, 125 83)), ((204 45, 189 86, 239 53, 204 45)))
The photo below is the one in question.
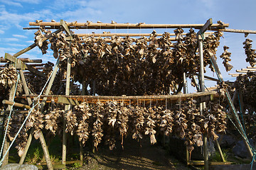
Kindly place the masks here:
MULTIPOLYGON (((94 1, 58 1, 58 0, 0 0, 0 57, 5 52, 15 54, 19 50, 33 43, 33 33, 36 30, 23 30, 28 27, 28 22, 41 19, 43 21, 86 22, 102 21, 110 23, 206 23, 213 18, 213 23, 218 20, 230 23, 229 28, 256 30, 256 1, 255 0, 94 0, 94 1)), ((75 30, 75 33, 101 33, 104 30, 75 30)), ((149 30, 110 30, 112 33, 151 33, 149 30)), ((173 29, 159 29, 157 33, 173 29)), ((187 31, 187 30, 185 30, 187 31)), ((249 35, 256 41, 256 35, 249 35)), ((223 45, 230 47, 232 52, 230 62, 234 68, 229 73, 235 73, 235 69, 249 66, 245 62, 245 52, 242 42, 243 34, 225 33, 220 40, 217 56, 223 52, 223 45)), ((252 42, 256 48, 256 42, 252 42)), ((41 55, 41 51, 35 49, 21 55, 31 59, 41 58, 44 62, 54 62, 52 53, 41 55)), ((223 67, 222 60, 218 58, 218 64, 225 80, 234 80, 223 67)), ((213 73, 207 72, 213 77, 213 73)), ((214 77, 216 77, 214 75, 214 77)), ((206 81, 207 86, 213 86, 206 81)))

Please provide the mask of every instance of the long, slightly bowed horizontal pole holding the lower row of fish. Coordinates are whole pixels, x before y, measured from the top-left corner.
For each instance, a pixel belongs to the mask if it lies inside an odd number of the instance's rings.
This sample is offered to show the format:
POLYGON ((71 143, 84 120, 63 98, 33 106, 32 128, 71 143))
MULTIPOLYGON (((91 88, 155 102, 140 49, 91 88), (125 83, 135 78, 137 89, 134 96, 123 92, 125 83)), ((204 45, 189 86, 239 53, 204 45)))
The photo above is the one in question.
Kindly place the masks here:
MULTIPOLYGON (((16 98, 33 98, 34 101, 38 100, 38 95, 23 95, 23 96, 16 96, 16 98)), ((184 101, 188 98, 194 98, 198 103, 203 101, 210 101, 214 98, 219 98, 220 94, 217 91, 205 91, 205 92, 198 92, 193 94, 176 94, 176 95, 157 95, 157 96, 72 96, 72 95, 41 95, 39 101, 45 100, 46 103, 50 103, 52 100, 55 103, 64 103, 64 104, 71 104, 71 105, 79 105, 81 102, 87 103, 97 103, 97 102, 106 102, 106 101, 117 101, 119 103, 124 102, 127 105, 134 105, 137 106, 138 103, 143 103, 145 106, 149 106, 155 103, 161 103, 161 105, 165 105, 166 101, 168 103, 175 103, 177 101, 184 101), (43 99, 44 98, 44 99, 43 99)), ((9 102, 10 105, 11 101, 9 102)), ((17 107, 24 108, 23 104, 16 103, 17 107)), ((27 107, 27 106, 26 106, 27 107)))

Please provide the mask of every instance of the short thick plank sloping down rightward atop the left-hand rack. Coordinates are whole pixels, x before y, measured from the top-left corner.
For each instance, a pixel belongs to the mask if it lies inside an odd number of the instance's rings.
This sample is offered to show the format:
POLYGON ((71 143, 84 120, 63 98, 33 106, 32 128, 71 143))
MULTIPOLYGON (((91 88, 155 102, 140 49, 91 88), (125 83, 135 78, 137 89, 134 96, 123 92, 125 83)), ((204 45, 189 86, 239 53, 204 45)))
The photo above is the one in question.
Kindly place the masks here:
POLYGON ((18 69, 28 69, 29 71, 33 72, 34 74, 37 74, 38 76, 41 76, 41 77, 46 77, 45 74, 43 74, 42 72, 39 72, 37 69, 31 67, 29 64, 26 64, 24 62, 22 62, 21 60, 19 60, 18 58, 12 56, 12 55, 9 55, 8 53, 5 54, 4 58, 6 60, 9 60, 11 62, 14 62, 16 63, 16 67, 18 69))

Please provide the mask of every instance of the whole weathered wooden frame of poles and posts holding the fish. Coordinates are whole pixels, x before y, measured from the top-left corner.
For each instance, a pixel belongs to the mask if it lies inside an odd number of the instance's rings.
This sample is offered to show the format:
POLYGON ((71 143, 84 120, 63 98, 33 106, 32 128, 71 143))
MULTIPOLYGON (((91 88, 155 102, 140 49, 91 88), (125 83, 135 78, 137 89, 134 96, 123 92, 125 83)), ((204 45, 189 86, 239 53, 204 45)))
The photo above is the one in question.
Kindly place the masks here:
MULTIPOLYGON (((48 99, 54 98, 55 101, 58 101, 59 103, 65 103, 65 113, 70 110, 70 106, 71 105, 78 105, 78 101, 81 101, 84 98, 87 98, 87 100, 95 102, 95 100, 111 100, 111 99, 115 99, 115 100, 127 100, 127 102, 131 103, 132 100, 138 101, 138 100, 143 100, 143 101, 151 101, 151 100, 166 100, 166 98, 168 98, 169 100, 177 100, 177 98, 181 99, 181 98, 188 98, 188 97, 198 97, 198 98, 202 98, 202 96, 208 96, 208 98, 205 98, 204 100, 201 100, 201 112, 203 111, 203 108, 205 108, 205 103, 204 101, 209 101, 211 97, 215 97, 218 96, 218 94, 216 94, 215 91, 210 91, 210 92, 205 92, 205 88, 204 88, 204 78, 206 76, 204 76, 204 72, 203 72, 203 35, 205 34, 210 34, 209 32, 206 32, 206 30, 221 30, 221 31, 233 31, 235 33, 245 33, 246 31, 244 30, 228 30, 226 29, 226 27, 229 26, 228 23, 217 23, 217 24, 213 24, 212 19, 210 18, 205 24, 146 24, 146 23, 137 23, 137 24, 132 24, 132 23, 92 23, 90 21, 87 21, 87 23, 77 23, 77 22, 73 22, 73 23, 66 23, 65 21, 61 20, 60 23, 58 22, 39 22, 39 23, 35 23, 35 22, 30 22, 29 23, 30 26, 40 26, 40 27, 44 27, 46 29, 58 29, 55 30, 54 33, 60 33, 61 31, 65 30, 65 32, 70 35, 70 40, 72 40, 73 38, 73 32, 71 31, 71 29, 143 29, 143 28, 195 28, 195 29, 199 29, 198 31, 198 52, 200 55, 200 87, 198 86, 197 89, 198 92, 197 94, 186 94, 186 88, 185 88, 185 81, 184 82, 184 88, 183 88, 183 94, 182 95, 176 95, 176 96, 70 96, 70 58, 68 59, 68 64, 67 64, 67 78, 66 78, 66 87, 65 87, 65 96, 56 96, 56 95, 49 95, 51 86, 53 84, 53 81, 55 79, 55 74, 58 71, 58 64, 59 64, 59 60, 56 63, 56 67, 53 70, 53 76, 50 78, 50 81, 48 83, 47 89, 45 94, 43 94, 40 98, 39 101, 41 101, 41 111, 43 111, 44 106, 46 105, 46 102, 48 102, 48 99)), ((32 28, 24 28, 24 29, 38 29, 39 27, 32 27, 32 28)), ((248 31, 247 31, 248 32, 248 31)), ((247 33, 246 32, 246 33, 247 33)), ((249 31, 250 33, 254 33, 253 31, 249 31)), ((53 35, 53 33, 51 33, 50 35, 46 36, 46 38, 43 39, 43 41, 48 40, 48 38, 50 38, 53 35)), ((119 33, 102 33, 102 34, 78 34, 78 36, 83 37, 83 36, 102 36, 102 37, 110 37, 112 35, 117 35, 117 36, 149 36, 150 34, 119 34, 119 33)), ((174 35, 174 34, 171 34, 174 35)), ((175 39, 174 39, 175 40, 175 39)), ((17 52, 15 55, 9 55, 6 53, 5 55, 5 59, 1 59, 1 61, 6 62, 7 60, 14 62, 16 64, 17 69, 20 70, 21 73, 21 79, 22 79, 22 83, 23 83, 23 88, 25 91, 26 95, 23 95, 23 98, 26 98, 28 100, 28 104, 31 105, 32 101, 31 98, 35 98, 37 97, 37 95, 31 95, 28 93, 28 88, 26 85, 26 80, 23 76, 23 70, 27 69, 30 72, 33 72, 34 74, 37 74, 40 77, 45 77, 45 75, 41 72, 38 71, 38 69, 40 69, 41 66, 39 64, 34 64, 34 65, 29 65, 26 62, 36 62, 35 60, 25 60, 25 59, 18 59, 17 57, 19 55, 22 55, 23 53, 27 52, 28 50, 33 49, 33 47, 36 47, 36 42, 33 43, 32 45, 30 45, 29 47, 26 47, 25 49, 21 50, 20 52, 17 52), (34 67, 36 67, 37 69, 35 69, 34 67)), ((38 61, 39 62, 39 61, 38 61)), ((213 63, 215 64, 215 63, 213 63)), ((218 66, 217 66, 218 69, 218 66)), ((219 70, 218 70, 219 72, 219 70)), ((220 74, 220 72, 219 72, 220 74)), ((220 74, 221 76, 221 74, 220 74)), ((186 74, 183 74, 183 79, 186 79, 186 74)), ((223 81, 223 79, 221 80, 217 80, 217 81, 223 81)), ((84 86, 83 86, 84 88, 84 86)), ((85 89, 82 90, 83 92, 85 91, 85 89)), ((10 94, 13 93, 13 90, 11 90, 10 94)), ((83 93, 84 94, 84 93, 83 93)), ((11 95, 10 95, 11 96, 11 95)), ((37 98, 38 99, 38 98, 37 98)), ((12 105, 12 101, 11 98, 9 98, 9 101, 4 101, 6 104, 12 105)), ((18 106, 18 103, 16 103, 16 106, 18 106)), ((22 107, 30 107, 30 106, 22 106, 22 107)), ((65 118, 65 116, 64 116, 65 118)), ((66 135, 65 135, 65 120, 64 120, 64 128, 63 128, 63 159, 62 159, 62 164, 65 167, 66 164, 66 135)), ((26 152, 28 151, 28 147, 31 143, 32 140, 32 133, 33 130, 31 130, 31 133, 28 137, 28 143, 26 145, 24 154, 21 157, 20 160, 20 164, 23 164, 23 161, 26 157, 26 152)), ((48 169, 53 169, 53 165, 50 162, 50 157, 49 157, 49 153, 48 153, 48 149, 46 147, 46 142, 44 140, 43 137, 43 133, 41 132, 40 135, 40 141, 41 141, 41 145, 43 148, 43 152, 46 156, 46 162, 47 162, 47 166, 48 169)), ((6 142, 6 146, 8 145, 8 142, 6 142)), ((218 146, 218 149, 220 151, 220 154, 222 154, 220 146, 218 145, 218 141, 216 141, 216 145, 218 146)), ((81 145, 82 146, 82 145, 81 145)), ((206 153, 208 148, 207 148, 207 137, 203 138, 203 146, 204 146, 204 152, 206 153)), ((5 147, 6 148, 6 147, 5 147)), ((81 147, 82 148, 82 147, 81 147)), ((223 157, 222 157, 223 158, 223 157)), ((80 149, 80 159, 82 160, 82 149, 80 149)), ((188 160, 188 157, 186 157, 186 162, 187 164, 193 164, 193 161, 188 160)), ((223 158, 223 162, 225 162, 225 159, 223 158)), ((4 164, 8 163, 8 159, 7 162, 5 161, 4 164)), ((205 159, 204 159, 204 165, 205 165, 205 169, 208 169, 208 157, 205 154, 205 159)))

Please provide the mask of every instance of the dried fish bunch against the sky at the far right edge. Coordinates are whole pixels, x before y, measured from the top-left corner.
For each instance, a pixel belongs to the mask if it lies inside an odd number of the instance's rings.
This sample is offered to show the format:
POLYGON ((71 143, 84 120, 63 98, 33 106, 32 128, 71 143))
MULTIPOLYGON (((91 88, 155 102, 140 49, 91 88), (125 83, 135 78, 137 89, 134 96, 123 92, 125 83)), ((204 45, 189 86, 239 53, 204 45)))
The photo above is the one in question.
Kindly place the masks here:
POLYGON ((256 58, 256 53, 255 53, 255 49, 252 49, 252 43, 251 43, 251 42, 252 42, 252 40, 250 40, 249 38, 247 38, 247 39, 245 40, 245 42, 242 42, 242 44, 245 45, 245 46, 244 46, 245 55, 247 56, 246 62, 249 62, 250 65, 251 65, 252 67, 254 67, 255 64, 256 64, 256 60, 255 60, 255 58, 256 58))

